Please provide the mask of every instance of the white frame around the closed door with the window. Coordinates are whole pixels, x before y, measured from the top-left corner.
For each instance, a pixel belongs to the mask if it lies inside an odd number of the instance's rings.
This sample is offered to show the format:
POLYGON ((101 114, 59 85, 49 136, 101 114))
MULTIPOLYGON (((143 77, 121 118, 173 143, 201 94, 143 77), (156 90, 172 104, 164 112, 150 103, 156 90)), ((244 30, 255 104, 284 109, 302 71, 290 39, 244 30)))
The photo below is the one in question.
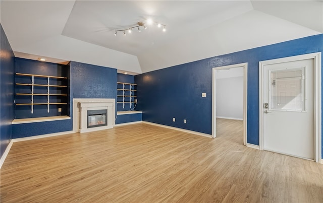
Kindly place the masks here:
POLYGON ((259 149, 263 150, 263 69, 265 65, 314 59, 314 161, 321 160, 321 52, 259 61, 259 149))

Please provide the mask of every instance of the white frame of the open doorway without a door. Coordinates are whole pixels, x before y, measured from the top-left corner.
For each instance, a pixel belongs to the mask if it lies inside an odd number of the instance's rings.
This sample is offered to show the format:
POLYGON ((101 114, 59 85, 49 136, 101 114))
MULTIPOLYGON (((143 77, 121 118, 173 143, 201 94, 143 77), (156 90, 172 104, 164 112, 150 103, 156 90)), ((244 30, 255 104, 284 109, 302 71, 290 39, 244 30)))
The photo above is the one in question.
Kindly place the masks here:
POLYGON ((212 68, 212 138, 216 138, 217 133, 217 71, 243 67, 243 145, 247 145, 247 86, 248 86, 248 63, 239 63, 212 68))

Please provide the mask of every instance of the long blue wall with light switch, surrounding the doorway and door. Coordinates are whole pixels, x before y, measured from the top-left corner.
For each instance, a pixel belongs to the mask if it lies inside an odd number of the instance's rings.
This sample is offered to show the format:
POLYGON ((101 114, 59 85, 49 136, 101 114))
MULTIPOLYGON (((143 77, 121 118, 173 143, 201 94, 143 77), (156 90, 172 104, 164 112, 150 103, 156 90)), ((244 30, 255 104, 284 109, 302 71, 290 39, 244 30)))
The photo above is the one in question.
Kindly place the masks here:
POLYGON ((259 61, 321 51, 323 34, 137 75, 135 82, 140 101, 137 110, 143 111, 144 121, 211 134, 212 68, 248 62, 247 142, 258 145, 259 61), (202 92, 206 92, 206 97, 201 97, 202 92), (173 117, 176 117, 176 122, 173 122, 173 117), (187 124, 184 124, 184 119, 187 119, 187 124))

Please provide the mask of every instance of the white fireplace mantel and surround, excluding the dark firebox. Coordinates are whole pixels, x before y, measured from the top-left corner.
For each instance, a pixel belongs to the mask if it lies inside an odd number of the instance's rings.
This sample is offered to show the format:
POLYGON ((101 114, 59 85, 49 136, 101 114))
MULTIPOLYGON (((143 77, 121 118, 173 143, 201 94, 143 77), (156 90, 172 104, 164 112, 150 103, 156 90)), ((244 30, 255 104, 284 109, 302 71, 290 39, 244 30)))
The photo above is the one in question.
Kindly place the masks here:
POLYGON ((73 131, 82 133, 113 128, 115 109, 115 99, 73 99, 73 131), (87 111, 100 109, 107 110, 107 125, 87 128, 87 111))

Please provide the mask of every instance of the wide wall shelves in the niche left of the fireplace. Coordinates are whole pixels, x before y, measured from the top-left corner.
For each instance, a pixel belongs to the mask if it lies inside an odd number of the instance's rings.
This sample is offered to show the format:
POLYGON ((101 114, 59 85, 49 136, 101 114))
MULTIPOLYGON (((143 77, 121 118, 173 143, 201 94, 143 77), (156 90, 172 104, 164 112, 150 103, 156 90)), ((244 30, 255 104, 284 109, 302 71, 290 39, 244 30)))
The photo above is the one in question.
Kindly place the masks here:
MULTIPOLYGON (((60 76, 45 76, 45 75, 36 75, 36 74, 25 74, 25 73, 16 73, 16 76, 26 77, 26 83, 16 83, 16 86, 24 87, 28 86, 30 89, 27 88, 22 92, 16 92, 15 101, 16 105, 30 105, 31 106, 31 113, 34 113, 34 105, 47 105, 47 113, 49 113, 49 105, 64 105, 67 102, 57 102, 60 100, 60 97, 66 97, 65 101, 68 101, 68 86, 67 86, 67 77, 60 77, 60 76), (27 79, 28 78, 28 79, 27 79), (46 84, 38 84, 35 82, 37 78, 45 79, 46 84), (64 82, 65 81, 65 82, 64 82), (30 82, 30 83, 29 83, 30 82), (58 84, 60 83, 60 84, 58 84), (62 85, 64 84, 64 85, 62 85), (66 85, 65 85, 66 84, 66 85), (43 88, 37 89, 36 88, 43 88), (46 90, 45 90, 46 89, 46 90), (61 92, 61 93, 58 93, 61 92), (62 93, 64 92, 64 93, 62 93), (20 103, 19 101, 23 100, 19 98, 19 96, 30 96, 30 102, 23 102, 20 103), (37 97, 45 96, 46 102, 37 102, 43 101, 43 99, 38 99, 37 97), (55 102, 51 102, 55 101, 55 102)), ((43 81, 42 82, 45 82, 43 81)), ((24 100, 23 100, 24 101, 24 100)))

